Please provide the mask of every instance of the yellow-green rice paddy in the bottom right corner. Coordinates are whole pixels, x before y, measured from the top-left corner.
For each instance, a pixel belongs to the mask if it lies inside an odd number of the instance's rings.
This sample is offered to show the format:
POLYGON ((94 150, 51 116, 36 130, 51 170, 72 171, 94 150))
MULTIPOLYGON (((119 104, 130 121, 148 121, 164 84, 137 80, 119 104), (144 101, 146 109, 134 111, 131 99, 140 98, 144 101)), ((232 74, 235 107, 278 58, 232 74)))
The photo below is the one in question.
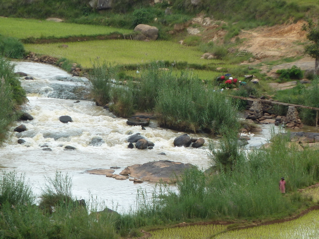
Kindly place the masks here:
POLYGON ((248 229, 227 231, 224 225, 197 225, 188 227, 174 227, 151 232, 151 239, 256 239, 256 238, 319 238, 319 211, 314 210, 308 214, 285 223, 276 223, 267 226, 258 226, 248 229), (223 232, 225 231, 225 232, 223 232))

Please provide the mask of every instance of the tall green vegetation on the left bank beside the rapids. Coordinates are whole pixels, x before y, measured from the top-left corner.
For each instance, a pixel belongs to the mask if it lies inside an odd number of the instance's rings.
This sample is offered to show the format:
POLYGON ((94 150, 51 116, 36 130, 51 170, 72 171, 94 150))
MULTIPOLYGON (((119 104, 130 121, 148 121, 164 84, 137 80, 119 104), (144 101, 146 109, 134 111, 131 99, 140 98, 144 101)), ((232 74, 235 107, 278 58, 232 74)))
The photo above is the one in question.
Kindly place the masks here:
POLYGON ((10 123, 18 118, 16 110, 27 101, 25 91, 13 70, 10 62, 0 56, 0 142, 5 139, 10 123))

